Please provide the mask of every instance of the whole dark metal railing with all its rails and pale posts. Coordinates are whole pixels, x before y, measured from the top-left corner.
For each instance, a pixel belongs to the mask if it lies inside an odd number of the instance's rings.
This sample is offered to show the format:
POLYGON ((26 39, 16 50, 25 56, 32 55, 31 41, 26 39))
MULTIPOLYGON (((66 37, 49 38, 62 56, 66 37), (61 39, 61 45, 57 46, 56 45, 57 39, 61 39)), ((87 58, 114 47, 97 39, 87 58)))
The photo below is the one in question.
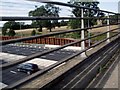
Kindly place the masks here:
MULTIPOLYGON (((18 86, 26 83, 27 81, 31 80, 31 79, 34 79, 35 77, 39 76, 39 75, 42 75, 43 73, 53 69, 54 67, 64 63, 64 62, 67 62, 68 60, 78 56, 78 55, 83 55, 85 56, 85 52, 87 50, 89 50, 90 48, 93 48, 93 47, 96 47, 98 46, 99 44, 107 41, 108 43, 110 42, 110 39, 113 38, 113 37, 116 37, 116 36, 119 36, 120 35, 120 32, 118 32, 117 34, 115 35, 112 35, 110 36, 110 32, 112 31, 115 31, 115 30, 120 30, 120 28, 115 28, 115 29, 112 29, 110 30, 110 20, 112 20, 113 18, 110 18, 109 17, 109 14, 114 14, 114 15, 120 15, 118 13, 114 13, 114 12, 109 12, 109 11, 104 11, 104 10, 98 10, 98 9, 92 9, 92 8, 88 8, 88 7, 82 7, 82 6, 75 6, 75 5, 72 5, 72 4, 67 4, 67 3, 60 3, 60 2, 45 2, 45 1, 42 1, 43 3, 51 3, 51 4, 56 4, 56 5, 62 5, 62 6, 68 6, 68 7, 76 7, 76 8, 81 8, 81 17, 0 17, 2 18, 2 21, 16 21, 16 20, 60 20, 60 19, 81 19, 81 28, 79 29, 74 29, 74 30, 68 30, 68 31, 61 31, 61 32, 55 32, 55 33, 52 33, 52 34, 45 34, 45 35, 37 35, 37 36, 31 36, 31 37, 25 37, 25 38, 19 38, 19 39, 13 39, 13 40, 6 40, 6 41, 1 41, 0 42, 0 45, 7 45, 7 44, 11 44, 11 43, 16 43, 16 42, 23 42, 23 41, 26 41, 26 40, 32 40, 32 39, 37 39, 37 38, 42 38, 42 37, 49 37, 49 36, 55 36, 55 35, 60 35, 60 34, 64 34, 64 33, 70 33, 70 32, 78 32, 78 31, 81 31, 81 40, 78 40, 76 42, 72 42, 72 43, 69 43, 69 44, 66 44, 66 45, 63 45, 61 47, 58 47, 58 48, 55 48, 55 49, 51 49, 51 50, 48 50, 48 51, 45 51, 45 52, 38 52, 38 53, 35 53, 33 55, 30 55, 30 56, 27 56, 25 58, 22 58, 16 62, 11 62, 11 63, 7 63, 7 64, 3 64, 0 66, 0 68, 2 68, 3 70, 4 69, 7 69, 9 67, 12 67, 14 65, 17 65, 19 63, 22 63, 22 62, 25 62, 25 61, 28 61, 30 59, 33 59, 33 58, 36 58, 36 57, 40 57, 42 55, 46 55, 46 54, 49 54, 51 52, 54 52, 54 51, 57 51, 57 50, 60 50, 60 49, 63 49, 67 46, 71 46, 71 45, 74 45, 76 43, 81 43, 81 48, 82 50, 80 52, 77 52, 73 55, 71 55, 70 57, 67 57, 49 67, 46 67, 45 69, 41 70, 41 71, 38 71, 36 73, 34 73, 33 75, 31 76, 28 76, 27 78, 25 78, 24 80, 20 80, 18 82, 16 82, 15 84, 12 84, 12 85, 9 85, 7 86, 6 88, 17 88, 18 86), (84 9, 89 9, 89 10, 97 10, 97 11, 101 11, 101 12, 104 12, 104 13, 108 13, 108 16, 107 18, 101 18, 101 17, 84 17, 84 14, 83 14, 83 10, 84 9), (107 25, 102 25, 102 26, 96 26, 96 27, 84 27, 84 20, 87 19, 107 19, 107 25), (99 28, 99 27, 104 27, 104 26, 107 26, 107 31, 104 32, 104 33, 100 33, 100 34, 97 34, 97 35, 94 35, 94 36, 91 36, 91 37, 88 37, 88 38, 85 38, 85 35, 84 35, 84 32, 85 30, 87 29, 93 29, 93 28, 99 28), (85 41, 86 40, 89 40, 91 38, 94 38, 94 37, 97 37, 97 36, 100 36, 100 35, 103 35, 103 34, 107 34, 107 38, 106 39, 103 39, 91 46, 89 46, 88 48, 85 48, 85 41)), ((114 19, 115 20, 115 19, 114 19)), ((116 20, 120 20, 120 18, 117 18, 116 20)), ((118 25, 120 22, 118 22, 117 24, 115 25, 118 25)))

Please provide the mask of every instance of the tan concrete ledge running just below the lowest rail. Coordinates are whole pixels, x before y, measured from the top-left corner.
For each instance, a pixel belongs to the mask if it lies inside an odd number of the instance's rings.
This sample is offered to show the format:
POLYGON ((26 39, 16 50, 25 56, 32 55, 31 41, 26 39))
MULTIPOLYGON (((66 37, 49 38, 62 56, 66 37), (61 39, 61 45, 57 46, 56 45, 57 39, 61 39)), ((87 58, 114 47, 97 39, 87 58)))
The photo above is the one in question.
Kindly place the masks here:
MULTIPOLYGON (((97 51, 98 49, 102 48, 105 45, 106 44, 99 45, 97 48, 88 51, 87 54, 91 55, 93 52, 97 51)), ((105 52, 105 51, 103 51, 103 52, 105 52)), ((109 52, 110 51, 108 50, 108 52, 105 52, 105 53, 109 53, 109 52)), ((61 65, 61 67, 55 68, 54 70, 51 70, 51 71, 47 72, 43 76, 40 76, 36 80, 33 80, 33 81, 31 81, 31 82, 29 82, 29 83, 27 83, 27 84, 25 84, 24 86, 21 86, 21 87, 22 88, 30 88, 30 86, 32 86, 32 88, 40 88, 40 87, 44 86, 45 84, 47 84, 48 82, 52 81, 54 78, 60 76, 61 74, 63 74, 67 70, 69 70, 70 68, 72 68, 75 65, 77 65, 78 63, 80 63, 83 59, 84 58, 81 58, 80 56, 78 56, 78 57, 74 58, 73 60, 64 63, 63 65, 61 65)), ((76 74, 76 72, 74 74, 76 74)), ((69 77, 69 76, 67 76, 67 77, 69 77)), ((72 77, 72 76, 70 76, 70 77, 72 77)), ((66 79, 68 79, 68 78, 66 78, 66 79)), ((61 82, 63 83, 64 81, 65 80, 63 80, 61 82)), ((59 88, 61 87, 62 88, 62 87, 64 87, 64 86, 62 86, 62 84, 60 84, 61 82, 59 82, 60 86, 55 85, 55 87, 53 87, 53 86, 52 87, 53 88, 56 88, 56 87, 59 87, 59 88)), ((64 82, 64 84, 65 84, 65 82, 64 82)))

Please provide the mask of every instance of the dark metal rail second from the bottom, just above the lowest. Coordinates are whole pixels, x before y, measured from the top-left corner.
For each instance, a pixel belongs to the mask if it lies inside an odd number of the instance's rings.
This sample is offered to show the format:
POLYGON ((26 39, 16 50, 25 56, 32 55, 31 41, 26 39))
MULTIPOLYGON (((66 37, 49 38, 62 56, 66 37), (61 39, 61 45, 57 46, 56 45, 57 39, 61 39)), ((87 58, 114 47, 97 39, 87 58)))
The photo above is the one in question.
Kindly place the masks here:
MULTIPOLYGON (((111 31, 115 31, 115 30, 118 30, 118 29, 120 29, 120 28, 116 28, 116 29, 113 29, 113 30, 111 30, 111 31)), ((82 41, 85 41, 85 40, 88 40, 88 39, 91 39, 91 38, 94 38, 94 37, 103 35, 103 34, 105 34, 105 33, 107 33, 107 32, 111 32, 111 31, 106 31, 106 32, 104 32, 104 33, 100 33, 100 34, 91 36, 91 37, 89 37, 89 38, 85 38, 85 39, 82 39, 82 40, 79 40, 79 41, 76 41, 76 42, 72 42, 72 43, 69 43, 69 44, 63 45, 63 46, 61 46, 61 47, 58 47, 58 48, 55 48, 55 49, 51 49, 51 50, 48 50, 48 51, 45 51, 45 52, 42 52, 42 53, 41 53, 41 52, 40 52, 40 53, 38 52, 38 53, 35 53, 35 54, 33 54, 33 55, 27 56, 27 57, 25 57, 25 58, 19 59, 19 61, 0 65, 0 68, 2 68, 2 69, 9 68, 9 67, 11 67, 11 66, 13 66, 13 65, 15 65, 15 64, 22 63, 22 62, 28 61, 28 60, 30 60, 30 59, 40 57, 40 56, 42 56, 42 55, 46 55, 46 54, 48 54, 48 53, 51 53, 51 52, 54 52, 54 51, 63 49, 63 48, 65 48, 65 47, 67 47, 67 46, 74 45, 74 44, 76 44, 76 43, 80 43, 80 42, 82 42, 82 41)), ((120 34, 120 33, 117 33, 117 34, 115 34, 115 35, 118 35, 118 34, 120 34)), ((112 36, 111 36, 111 37, 112 37, 112 36)), ((109 38, 106 38, 106 39, 109 39, 109 38)))

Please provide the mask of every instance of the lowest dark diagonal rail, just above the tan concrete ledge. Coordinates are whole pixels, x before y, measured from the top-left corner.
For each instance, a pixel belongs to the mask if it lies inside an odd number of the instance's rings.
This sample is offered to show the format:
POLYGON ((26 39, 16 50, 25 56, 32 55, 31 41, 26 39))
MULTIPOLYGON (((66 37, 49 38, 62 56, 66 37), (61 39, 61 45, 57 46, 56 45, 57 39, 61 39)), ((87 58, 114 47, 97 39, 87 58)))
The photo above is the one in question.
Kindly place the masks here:
MULTIPOLYGON (((117 34, 115 34, 115 35, 113 35, 113 36, 111 36, 111 37, 109 37, 109 38, 106 38, 106 39, 104 39, 104 40, 102 40, 102 41, 100 41, 100 42, 98 42, 98 43, 96 43, 96 44, 94 44, 94 45, 92 45, 92 46, 90 46, 90 47, 88 47, 88 48, 85 49, 85 50, 82 50, 82 51, 80 51, 80 52, 78 52, 78 53, 76 53, 76 54, 71 55, 70 57, 67 57, 67 58, 65 58, 65 59, 63 59, 63 60, 61 60, 61 61, 53 64, 53 65, 50 65, 50 66, 46 67, 45 69, 43 69, 43 70, 41 70, 41 71, 38 71, 38 72, 36 72, 36 73, 34 73, 34 74, 26 77, 25 79, 22 79, 22 80, 14 83, 14 84, 12 84, 12 85, 9 85, 9 86, 7 86, 6 88, 11 88, 11 89, 17 88, 17 87, 19 87, 20 85, 22 85, 22 84, 24 84, 24 83, 26 83, 26 82, 29 82, 30 80, 33 80, 34 78, 37 78, 38 76, 46 73, 47 71, 55 68, 56 66, 58 66, 58 65, 60 65, 60 64, 62 64, 62 63, 64 63, 64 62, 67 62, 68 60, 70 60, 70 59, 72 59, 72 58, 80 55, 81 53, 86 52, 86 51, 89 50, 90 48, 93 48, 93 47, 95 47, 95 46, 98 46, 99 44, 101 44, 101 43, 105 42, 106 40, 108 40, 108 39, 110 39, 110 38, 112 38, 112 37, 115 37, 116 35, 119 35, 119 34, 120 34, 120 32, 117 33, 117 34)), ((119 37, 119 38, 120 38, 120 37, 119 37)), ((108 43, 108 44, 109 44, 109 43, 108 43)))

